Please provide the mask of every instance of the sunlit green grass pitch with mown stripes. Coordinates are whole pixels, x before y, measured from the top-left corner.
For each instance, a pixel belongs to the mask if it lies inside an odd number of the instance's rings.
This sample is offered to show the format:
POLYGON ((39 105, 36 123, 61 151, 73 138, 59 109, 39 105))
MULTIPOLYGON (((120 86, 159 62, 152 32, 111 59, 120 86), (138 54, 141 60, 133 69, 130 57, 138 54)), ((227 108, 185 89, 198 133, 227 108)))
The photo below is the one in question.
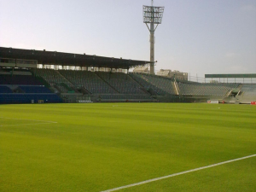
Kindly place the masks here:
MULTIPOLYGON (((0 117, 1 192, 102 191, 256 154, 251 105, 0 105, 0 117)), ((119 191, 256 191, 256 157, 119 191)))

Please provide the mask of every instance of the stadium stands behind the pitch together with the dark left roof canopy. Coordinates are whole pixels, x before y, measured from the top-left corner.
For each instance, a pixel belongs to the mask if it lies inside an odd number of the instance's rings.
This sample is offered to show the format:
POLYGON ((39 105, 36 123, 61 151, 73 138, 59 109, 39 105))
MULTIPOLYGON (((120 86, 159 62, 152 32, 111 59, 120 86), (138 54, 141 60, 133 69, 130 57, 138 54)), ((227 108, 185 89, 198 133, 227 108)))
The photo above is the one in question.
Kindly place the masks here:
POLYGON ((0 59, 0 103, 256 101, 256 84, 129 73, 150 61, 4 47, 0 59))

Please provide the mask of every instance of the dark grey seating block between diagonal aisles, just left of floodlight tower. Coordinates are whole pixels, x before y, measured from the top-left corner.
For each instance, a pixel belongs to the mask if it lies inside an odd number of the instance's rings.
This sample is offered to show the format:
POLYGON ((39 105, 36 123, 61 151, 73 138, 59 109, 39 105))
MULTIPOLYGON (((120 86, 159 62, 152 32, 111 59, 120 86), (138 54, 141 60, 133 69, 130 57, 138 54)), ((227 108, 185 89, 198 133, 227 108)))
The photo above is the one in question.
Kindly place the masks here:
POLYGON ((108 82, 115 90, 118 90, 119 93, 125 94, 146 94, 143 90, 140 89, 141 85, 137 84, 136 81, 131 79, 125 73, 97 73, 102 79, 108 82))

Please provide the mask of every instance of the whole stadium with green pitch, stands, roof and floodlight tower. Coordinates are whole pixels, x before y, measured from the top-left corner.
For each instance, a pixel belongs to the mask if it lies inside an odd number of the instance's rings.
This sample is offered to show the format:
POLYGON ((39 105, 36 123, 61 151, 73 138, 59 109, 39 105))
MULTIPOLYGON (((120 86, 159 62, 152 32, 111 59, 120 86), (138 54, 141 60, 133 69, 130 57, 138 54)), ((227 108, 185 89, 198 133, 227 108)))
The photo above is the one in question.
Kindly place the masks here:
POLYGON ((0 191, 256 190, 256 73, 155 74, 163 12, 150 61, 0 47, 0 191))

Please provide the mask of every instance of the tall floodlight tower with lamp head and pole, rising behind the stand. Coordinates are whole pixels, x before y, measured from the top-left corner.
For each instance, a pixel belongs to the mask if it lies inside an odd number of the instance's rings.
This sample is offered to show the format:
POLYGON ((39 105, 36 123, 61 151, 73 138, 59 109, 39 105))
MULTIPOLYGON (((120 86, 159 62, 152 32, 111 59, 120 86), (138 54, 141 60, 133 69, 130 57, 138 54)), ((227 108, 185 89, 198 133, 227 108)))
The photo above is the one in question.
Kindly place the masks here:
POLYGON ((154 31, 161 24, 165 9, 165 7, 154 7, 153 3, 154 1, 151 0, 151 6, 143 5, 143 22, 150 32, 150 74, 154 74, 154 31))

